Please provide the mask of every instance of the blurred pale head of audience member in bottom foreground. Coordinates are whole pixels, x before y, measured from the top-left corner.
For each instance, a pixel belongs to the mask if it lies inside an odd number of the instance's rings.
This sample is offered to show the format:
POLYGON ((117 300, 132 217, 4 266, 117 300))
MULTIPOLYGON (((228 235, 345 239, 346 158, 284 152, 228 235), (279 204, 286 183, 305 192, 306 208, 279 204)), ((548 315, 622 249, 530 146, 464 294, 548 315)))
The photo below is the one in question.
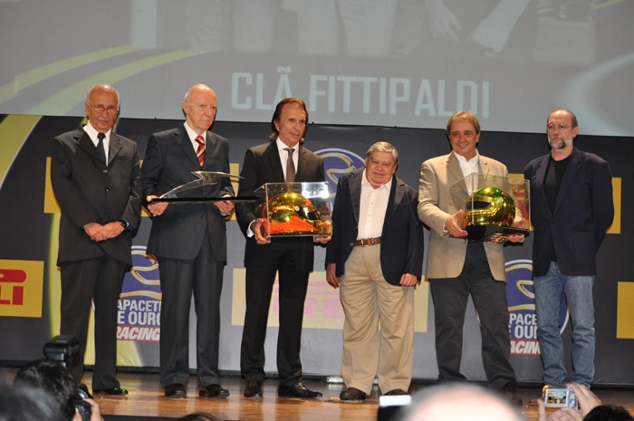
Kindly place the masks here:
POLYGON ((451 384, 426 388, 414 397, 401 421, 522 421, 502 397, 486 388, 451 384))

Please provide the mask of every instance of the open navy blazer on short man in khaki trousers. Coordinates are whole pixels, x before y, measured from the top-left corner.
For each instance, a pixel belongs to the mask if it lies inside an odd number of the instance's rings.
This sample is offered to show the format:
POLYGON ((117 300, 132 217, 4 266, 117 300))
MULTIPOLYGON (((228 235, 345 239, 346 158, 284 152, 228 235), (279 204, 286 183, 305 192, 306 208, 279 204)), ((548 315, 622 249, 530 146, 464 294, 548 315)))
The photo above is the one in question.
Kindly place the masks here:
MULTIPOLYGON (((363 169, 355 169, 339 179, 334 199, 332 239, 326 251, 326 264, 336 264, 337 276, 344 274, 345 263, 359 234, 363 169)), ((380 245, 381 271, 392 285, 399 285, 404 273, 420 279, 423 272, 423 225, 418 219, 417 206, 417 191, 398 177, 392 177, 380 245)))

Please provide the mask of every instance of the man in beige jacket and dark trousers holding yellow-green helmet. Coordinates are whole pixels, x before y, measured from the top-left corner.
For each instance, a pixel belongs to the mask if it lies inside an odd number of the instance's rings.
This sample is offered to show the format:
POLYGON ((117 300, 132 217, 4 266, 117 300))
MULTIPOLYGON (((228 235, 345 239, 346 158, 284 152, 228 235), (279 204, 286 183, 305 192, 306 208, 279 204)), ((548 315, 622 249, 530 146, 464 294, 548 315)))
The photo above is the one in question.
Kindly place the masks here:
MULTIPOLYGON (((423 162, 418 187, 418 216, 430 228, 426 276, 436 318, 438 381, 464 381, 460 373, 462 331, 469 294, 482 334, 482 358, 488 387, 514 405, 515 372, 509 361, 511 339, 506 300, 503 244, 466 239, 462 209, 451 201, 449 187, 471 173, 508 177, 504 164, 478 154, 480 123, 470 111, 458 111, 447 123, 452 152, 423 162)), ((520 241, 523 235, 512 235, 520 241)))

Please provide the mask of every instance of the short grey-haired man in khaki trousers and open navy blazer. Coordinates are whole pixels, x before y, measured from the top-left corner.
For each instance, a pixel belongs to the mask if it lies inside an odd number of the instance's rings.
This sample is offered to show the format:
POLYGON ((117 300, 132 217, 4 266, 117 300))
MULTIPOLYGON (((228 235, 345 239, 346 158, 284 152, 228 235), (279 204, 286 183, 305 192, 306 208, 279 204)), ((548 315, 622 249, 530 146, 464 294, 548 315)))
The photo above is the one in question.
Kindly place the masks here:
POLYGON ((326 279, 341 286, 346 389, 341 400, 365 400, 379 364, 383 395, 407 395, 414 356, 414 288, 423 271, 418 193, 398 177, 399 152, 372 145, 365 167, 339 179, 326 279), (379 349, 380 319, 380 363, 379 349))

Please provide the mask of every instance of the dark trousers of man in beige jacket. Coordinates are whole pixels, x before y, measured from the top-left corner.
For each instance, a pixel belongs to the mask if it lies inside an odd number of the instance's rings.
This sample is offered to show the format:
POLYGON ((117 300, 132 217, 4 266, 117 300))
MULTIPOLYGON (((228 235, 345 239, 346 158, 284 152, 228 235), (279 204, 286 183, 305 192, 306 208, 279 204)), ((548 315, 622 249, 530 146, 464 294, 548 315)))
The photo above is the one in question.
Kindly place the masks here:
POLYGON ((432 279, 436 318, 438 381, 464 381, 460 373, 463 324, 469 294, 473 298, 482 334, 482 361, 489 388, 514 387, 515 371, 509 361, 511 338, 506 282, 495 281, 482 243, 469 243, 466 261, 457 278, 432 279))

